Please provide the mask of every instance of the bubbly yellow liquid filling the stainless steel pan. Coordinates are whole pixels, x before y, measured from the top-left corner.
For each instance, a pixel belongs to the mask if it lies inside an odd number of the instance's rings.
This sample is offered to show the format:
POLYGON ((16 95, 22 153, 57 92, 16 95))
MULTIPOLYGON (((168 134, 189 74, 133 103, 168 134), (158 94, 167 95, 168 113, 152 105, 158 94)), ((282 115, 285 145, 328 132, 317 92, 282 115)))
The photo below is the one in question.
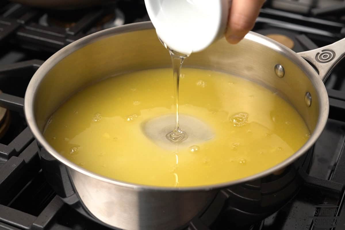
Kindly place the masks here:
POLYGON ((291 156, 310 136, 297 111, 266 88, 214 71, 182 72, 180 128, 188 139, 179 146, 165 137, 174 127, 171 69, 123 74, 82 90, 53 114, 44 135, 92 172, 165 187, 253 175, 291 156))

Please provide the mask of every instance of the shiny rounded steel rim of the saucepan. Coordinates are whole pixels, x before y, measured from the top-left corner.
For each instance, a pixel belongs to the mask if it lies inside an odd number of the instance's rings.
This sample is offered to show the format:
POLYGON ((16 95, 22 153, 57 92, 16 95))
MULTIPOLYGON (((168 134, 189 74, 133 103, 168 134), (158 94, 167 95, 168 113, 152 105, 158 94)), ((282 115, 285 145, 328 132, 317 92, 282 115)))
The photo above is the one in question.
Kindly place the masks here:
POLYGON ((312 82, 314 88, 316 89, 317 96, 319 98, 319 117, 315 126, 315 130, 311 134, 308 141, 299 150, 297 150, 294 154, 292 154, 292 156, 288 157, 284 161, 280 162, 279 164, 276 164, 275 166, 269 169, 266 169, 262 172, 256 173, 248 177, 244 177, 244 178, 240 178, 237 180, 228 181, 224 183, 206 185, 206 186, 181 187, 181 188, 180 187, 176 188, 176 187, 148 186, 148 185, 119 181, 119 180, 111 179, 105 176, 101 176, 97 173, 91 172, 69 161, 67 158, 63 157, 61 154, 59 154, 55 149, 53 149, 50 146, 50 144, 43 137, 43 134, 38 128, 38 125, 34 116, 34 109, 33 109, 35 99, 36 99, 36 94, 37 94, 36 89, 38 88, 42 80, 45 78, 46 74, 51 70, 51 68, 55 66, 63 58, 71 54, 72 52, 90 43, 96 42, 98 40, 101 40, 110 36, 115 36, 117 34, 121 34, 125 32, 134 32, 138 30, 149 30, 149 29, 150 30, 154 29, 150 21, 127 24, 125 26, 110 28, 110 29, 106 29, 106 30, 102 30, 102 31, 90 34, 75 42, 72 42, 68 46, 62 48, 61 50, 53 54, 49 59, 47 59, 41 65, 41 67, 34 73, 32 79, 30 80, 26 93, 25 93, 25 98, 24 98, 24 113, 25 113, 28 127, 30 128, 31 132, 33 133, 34 137, 36 138, 38 143, 41 145, 41 147, 43 147, 55 159, 57 159, 62 164, 64 164, 69 170, 78 171, 79 173, 82 173, 86 176, 89 176, 89 177, 92 177, 92 178, 95 178, 97 180, 101 180, 107 183, 111 183, 116 186, 123 186, 123 187, 136 189, 136 190, 155 190, 155 191, 201 191, 203 190, 203 191, 207 191, 207 190, 225 188, 234 184, 239 184, 239 183, 247 182, 250 180, 262 178, 264 176, 267 176, 268 174, 272 174, 273 172, 290 165, 297 158, 305 154, 309 150, 309 148, 313 146, 313 144, 316 142, 316 140, 318 139, 318 137, 321 135, 322 131, 324 130, 324 127, 326 125, 327 118, 328 118, 329 101, 328 101, 328 96, 327 96, 328 94, 327 94, 326 88, 321 78, 316 73, 316 71, 312 68, 310 64, 308 64, 307 61, 305 61, 302 57, 300 57, 297 53, 295 53, 291 49, 265 36, 262 36, 255 32, 249 32, 245 36, 245 39, 258 42, 287 57, 307 75, 309 80, 312 82))

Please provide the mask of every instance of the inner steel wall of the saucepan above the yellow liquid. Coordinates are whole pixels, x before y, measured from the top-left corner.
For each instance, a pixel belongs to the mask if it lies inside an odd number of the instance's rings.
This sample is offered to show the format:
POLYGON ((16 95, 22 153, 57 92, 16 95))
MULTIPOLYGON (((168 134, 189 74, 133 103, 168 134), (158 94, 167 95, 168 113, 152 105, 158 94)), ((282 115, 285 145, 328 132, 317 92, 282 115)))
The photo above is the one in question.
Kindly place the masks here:
MULTIPOLYGON (((298 63, 270 48, 279 48, 274 46, 274 43, 254 34, 248 34, 237 45, 230 45, 221 39, 208 49, 193 53, 186 59, 184 67, 231 73, 278 91, 313 132, 319 117, 319 96, 313 79, 306 76, 298 63), (283 78, 275 74, 276 64, 284 67, 283 78), (310 107, 305 103, 306 92, 312 96, 310 107)), ((47 73, 38 84, 33 105, 41 132, 51 114, 86 86, 121 73, 171 66, 169 54, 154 29, 109 34, 86 44, 72 44, 47 62, 47 73)))

